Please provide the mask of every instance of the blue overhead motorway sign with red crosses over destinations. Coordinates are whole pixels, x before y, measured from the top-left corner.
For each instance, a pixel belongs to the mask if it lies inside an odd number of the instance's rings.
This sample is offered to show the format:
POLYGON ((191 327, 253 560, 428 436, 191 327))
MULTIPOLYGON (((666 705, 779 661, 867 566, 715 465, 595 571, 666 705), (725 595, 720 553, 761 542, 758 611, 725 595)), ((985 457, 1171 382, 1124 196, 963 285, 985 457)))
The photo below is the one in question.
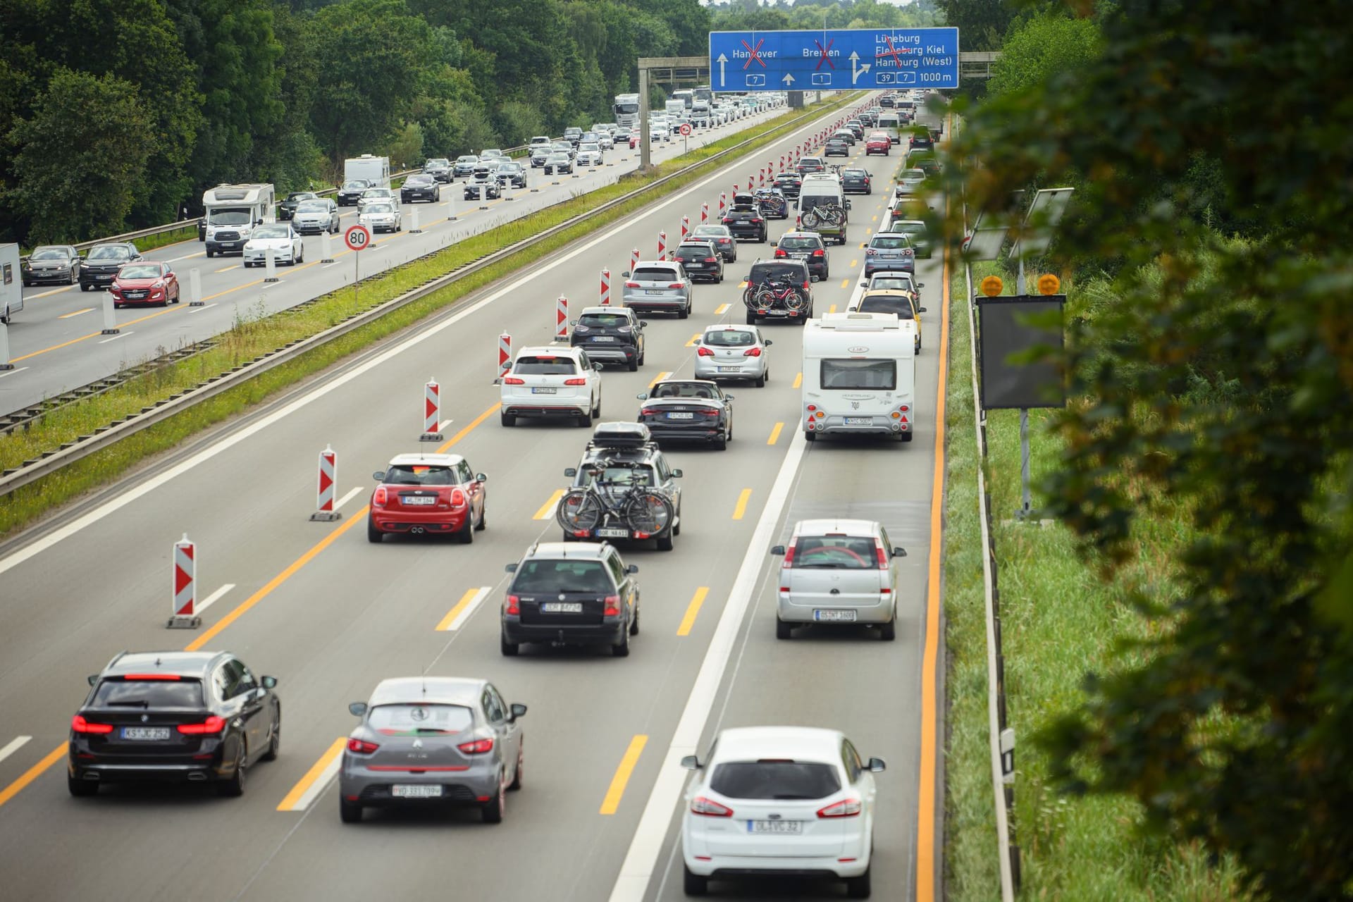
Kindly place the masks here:
POLYGON ((714 91, 957 88, 958 28, 710 31, 714 91))

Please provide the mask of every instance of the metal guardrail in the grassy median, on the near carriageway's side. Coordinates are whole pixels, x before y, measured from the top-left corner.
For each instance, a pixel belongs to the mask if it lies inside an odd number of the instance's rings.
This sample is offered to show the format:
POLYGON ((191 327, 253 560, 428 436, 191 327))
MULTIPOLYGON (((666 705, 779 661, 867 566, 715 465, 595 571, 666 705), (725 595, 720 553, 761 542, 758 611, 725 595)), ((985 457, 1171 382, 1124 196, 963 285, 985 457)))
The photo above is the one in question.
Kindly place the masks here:
MULTIPOLYGON (((786 133, 786 131, 792 131, 793 128, 796 128, 800 124, 802 124, 805 120, 815 119, 815 118, 817 118, 820 115, 823 115, 820 111, 805 112, 802 116, 796 116, 793 120, 786 122, 785 124, 777 127, 774 131, 775 133, 781 133, 781 134, 786 133)), ((484 257, 480 257, 479 260, 475 260, 475 261, 472 261, 469 264, 465 264, 464 266, 459 266, 457 269, 453 269, 453 270, 451 270, 451 272, 448 272, 448 273, 445 273, 442 276, 432 279, 428 283, 425 283, 423 285, 421 285, 418 288, 413 288, 413 289, 405 292, 403 295, 400 295, 398 298, 392 298, 392 299, 384 302, 383 304, 379 304, 376 307, 372 307, 371 310, 365 310, 365 311, 359 312, 359 314, 353 314, 352 316, 349 316, 348 319, 342 321, 341 323, 338 323, 336 326, 330 326, 329 329, 326 329, 326 330, 323 330, 321 333, 310 335, 308 338, 296 339, 296 341, 291 342, 290 345, 284 345, 283 348, 277 348, 276 350, 271 350, 268 353, 260 354, 258 357, 254 357, 248 364, 241 364, 239 366, 235 366, 235 368, 230 369, 229 372, 221 373, 218 376, 212 376, 211 379, 207 379, 207 380, 199 383, 196 385, 196 388, 191 388, 188 391, 180 392, 180 394, 173 395, 170 398, 161 399, 161 400, 156 402, 154 404, 143 407, 139 414, 133 414, 131 417, 126 417, 126 418, 123 418, 120 421, 110 423, 108 426, 100 427, 100 429, 95 430, 95 433, 91 434, 91 435, 81 435, 78 440, 76 440, 73 442, 66 442, 65 445, 62 445, 60 449, 57 449, 54 452, 46 452, 46 453, 43 453, 42 457, 39 457, 37 460, 24 461, 23 465, 16 467, 16 468, 9 469, 9 471, 5 471, 3 475, 0 475, 0 498, 3 498, 4 495, 8 495, 9 492, 12 492, 16 488, 27 485, 28 483, 31 483, 34 480, 38 480, 38 479, 42 479, 43 476, 54 473, 55 471, 61 469, 62 467, 66 467, 68 464, 73 464, 73 462, 76 462, 77 460, 80 460, 83 457, 87 457, 87 456, 89 456, 89 454, 92 454, 92 453, 95 453, 97 450, 101 450, 101 449, 104 449, 104 448, 107 448, 107 446, 110 446, 110 445, 112 445, 112 444, 115 444, 115 442, 118 442, 118 441, 120 441, 123 438, 127 438, 129 435, 134 435, 135 433, 138 433, 138 431, 141 431, 143 429, 147 429, 147 427, 150 427, 150 426, 153 426, 153 425, 156 425, 156 423, 158 423, 158 422, 161 422, 164 419, 168 419, 169 417, 180 414, 184 410, 192 407, 193 404, 204 402, 208 398, 212 398, 212 396, 219 395, 219 394, 222 394, 225 391, 229 391, 229 389, 231 389, 231 388, 234 388, 234 387, 237 387, 239 384, 244 384, 249 379, 253 379, 254 376, 257 376, 260 373, 264 373, 264 372, 272 369, 273 366, 277 366, 279 364, 284 364, 284 362, 288 362, 291 360, 295 360, 296 357, 304 354, 308 350, 319 348, 319 346, 325 345, 326 342, 330 342, 330 341, 333 341, 336 338, 340 338, 341 335, 345 335, 345 334, 353 331, 354 329, 360 329, 361 326, 365 326, 365 325, 368 325, 371 322, 375 322, 380 316, 384 316, 386 314, 388 314, 388 312, 391 312, 394 310, 398 310, 399 307, 403 307, 405 304, 410 304, 410 303, 413 303, 413 302, 415 302, 415 300, 418 300, 421 298, 426 298, 428 295, 430 295, 430 293, 433 293, 433 292, 436 292, 436 291, 438 291, 441 288, 445 288, 446 285, 449 285, 449 284, 452 284, 455 281, 459 281, 460 279, 464 279, 465 276, 469 276, 469 275, 472 275, 475 272, 479 272, 480 269, 484 269, 486 266, 491 266, 491 265, 494 265, 497 262, 507 260, 509 257, 511 257, 513 254, 515 254, 520 250, 525 250, 526 247, 530 247, 530 246, 537 245, 537 243, 540 243, 543 241, 547 241, 551 235, 555 235, 555 234, 557 234, 557 233, 560 233, 560 231, 563 231, 566 229, 571 229, 572 226, 576 226, 579 223, 583 223, 583 222, 587 222, 590 219, 594 219, 597 216, 597 214, 606 212, 609 210, 614 210, 616 207, 626 204, 630 200, 635 200, 636 197, 641 197, 643 195, 649 193, 653 189, 660 188, 660 187, 666 185, 667 183, 670 183, 672 180, 676 180, 676 179, 681 179, 681 177, 689 174, 689 173, 694 172, 695 169, 708 166, 712 162, 717 164, 718 161, 721 161, 721 160, 724 160, 724 158, 727 158, 729 156, 737 154, 747 145, 750 145, 752 141, 756 141, 758 138, 763 138, 767 134, 771 134, 771 133, 762 133, 762 134, 754 135, 754 137, 748 138, 747 141, 741 141, 741 142, 733 145, 732 147, 727 147, 724 150, 720 150, 718 153, 716 153, 716 154, 713 154, 710 157, 706 157, 704 160, 697 160, 695 162, 693 162, 693 164, 690 164, 687 166, 682 166, 676 172, 670 173, 667 176, 663 176, 662 179, 658 179, 658 180, 655 180, 655 181, 652 181, 652 183, 649 183, 649 184, 647 184, 647 185, 644 185, 641 188, 636 188, 635 191, 626 192, 626 193, 621 195, 620 197, 614 197, 612 200, 607 200, 603 204, 599 204, 597 207, 593 207, 591 210, 587 210, 586 212, 582 212, 582 214, 579 214, 576 216, 572 216, 572 218, 570 218, 570 219, 559 223, 557 226, 555 226, 553 229, 551 229, 548 231, 543 231, 543 233, 532 235, 529 238, 522 238, 521 241, 514 242, 514 243, 511 243, 511 245, 509 245, 509 246, 506 246, 506 247, 503 247, 501 250, 495 250, 494 253, 486 254, 484 257)), ((567 200, 561 200, 560 203, 567 203, 567 200)), ((548 210, 548 207, 547 207, 547 210, 548 210)), ((432 256, 434 256, 437 253, 441 253, 441 249, 437 249, 437 250, 434 250, 432 253, 423 254, 422 257, 415 257, 413 261, 410 261, 410 264, 413 264, 413 262, 415 262, 418 260, 426 260, 426 258, 429 258, 429 257, 432 257, 432 256)), ((398 269, 398 266, 394 268, 394 269, 398 269)), ((384 276, 386 273, 394 272, 394 269, 383 270, 382 273, 376 273, 373 276, 368 276, 367 279, 376 279, 376 277, 384 276)), ((357 284, 361 284, 361 281, 367 281, 367 279, 360 280, 357 284)), ((314 303, 315 300, 319 300, 319 299, 317 298, 317 299, 314 299, 311 302, 306 302, 306 303, 314 303)), ((162 358, 160 358, 160 360, 162 361, 162 358)), ((154 365, 154 364, 156 364, 156 361, 149 361, 147 362, 147 365, 154 365)), ((78 391, 78 389, 76 389, 76 391, 78 391)))

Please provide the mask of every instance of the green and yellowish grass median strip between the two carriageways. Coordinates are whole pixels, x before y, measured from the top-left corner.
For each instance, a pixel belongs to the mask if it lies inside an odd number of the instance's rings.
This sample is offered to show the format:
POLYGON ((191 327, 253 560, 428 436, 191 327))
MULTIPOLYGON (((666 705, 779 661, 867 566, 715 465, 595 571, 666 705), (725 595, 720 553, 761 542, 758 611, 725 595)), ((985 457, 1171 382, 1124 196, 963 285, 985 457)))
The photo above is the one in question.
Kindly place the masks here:
MULTIPOLYGON (((854 95, 846 95, 835 101, 810 108, 809 115, 823 115, 848 104, 854 95)), ((783 137, 801 111, 789 111, 767 122, 752 138, 748 149, 763 146, 783 137)), ((166 361, 150 372, 129 380, 116 388, 85 402, 54 410, 35 421, 30 429, 18 430, 0 438, 0 469, 9 469, 34 460, 43 452, 77 441, 81 435, 120 422, 152 407, 156 402, 177 398, 203 381, 242 366, 264 354, 291 345, 334 326, 349 316, 398 298, 448 272, 479 260, 495 250, 506 247, 524 238, 547 233, 560 223, 587 212, 595 206, 652 184, 671 172, 702 160, 720 150, 748 141, 747 133, 728 135, 705 147, 697 147, 675 160, 656 166, 645 174, 632 173, 613 185, 572 197, 545 210, 537 211, 497 229, 472 235, 449 247, 414 260, 402 266, 364 280, 359 295, 352 287, 325 295, 313 303, 292 307, 268 316, 261 308, 246 311, 237 318, 235 325, 216 335, 214 343, 202 353, 179 361, 166 361)), ((522 266, 545 257, 560 247, 576 242, 582 235, 603 229, 624 216, 639 211, 655 200, 675 193, 693 181, 704 179, 710 166, 687 173, 666 183, 660 188, 636 197, 617 208, 589 218, 586 222, 560 230, 545 241, 515 253, 479 272, 471 273, 445 288, 406 304, 379 321, 336 338, 298 357, 294 361, 260 373, 245 384, 216 395, 200 404, 176 414, 154 426, 145 429, 95 454, 74 461, 69 467, 51 473, 5 496, 0 506, 0 536, 9 534, 31 523, 80 494, 107 484, 124 473, 141 460, 173 448, 189 435, 233 417, 253 404, 267 400, 276 392, 296 381, 317 373, 344 357, 377 342, 425 316, 456 303, 484 285, 502 279, 522 266)))

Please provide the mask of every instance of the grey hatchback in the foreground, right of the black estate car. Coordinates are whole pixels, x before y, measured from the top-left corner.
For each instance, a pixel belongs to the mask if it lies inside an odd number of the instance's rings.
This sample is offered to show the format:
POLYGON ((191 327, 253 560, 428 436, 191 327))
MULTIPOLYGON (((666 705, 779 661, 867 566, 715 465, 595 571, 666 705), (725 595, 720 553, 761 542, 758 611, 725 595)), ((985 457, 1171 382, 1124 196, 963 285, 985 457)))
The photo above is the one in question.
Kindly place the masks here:
POLYGON ((521 788, 525 705, 507 705, 492 683, 451 676, 382 680, 367 702, 348 706, 361 723, 348 737, 338 772, 338 814, 364 807, 478 807, 503 820, 503 792, 521 788))

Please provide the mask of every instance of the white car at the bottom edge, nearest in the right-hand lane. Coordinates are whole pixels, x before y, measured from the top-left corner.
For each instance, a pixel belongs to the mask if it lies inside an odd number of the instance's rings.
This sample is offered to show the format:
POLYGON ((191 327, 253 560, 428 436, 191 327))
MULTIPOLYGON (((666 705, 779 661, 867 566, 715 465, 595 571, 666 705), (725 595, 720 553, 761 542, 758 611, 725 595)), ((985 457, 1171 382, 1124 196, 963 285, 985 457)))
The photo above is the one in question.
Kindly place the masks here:
POLYGON ((695 771, 682 813, 686 895, 704 895, 710 879, 778 872, 832 875, 850 898, 869 898, 882 760, 862 760, 838 730, 744 726, 682 767, 695 771))

